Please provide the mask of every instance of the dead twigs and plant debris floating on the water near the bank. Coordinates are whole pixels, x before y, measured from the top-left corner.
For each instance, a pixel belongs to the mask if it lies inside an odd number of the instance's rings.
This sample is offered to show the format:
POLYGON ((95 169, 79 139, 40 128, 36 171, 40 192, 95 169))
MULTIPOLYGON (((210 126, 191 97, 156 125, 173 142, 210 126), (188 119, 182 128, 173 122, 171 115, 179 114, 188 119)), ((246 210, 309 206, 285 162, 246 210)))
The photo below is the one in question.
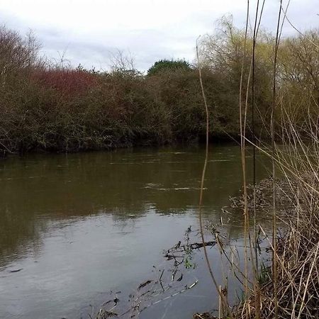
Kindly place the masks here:
MULTIPOLYGON (((153 266, 152 276, 138 285, 135 292, 128 296, 122 291, 111 291, 109 300, 99 310, 91 308, 91 319, 106 318, 139 318, 148 308, 179 296, 194 289, 198 279, 189 274, 196 268, 194 254, 203 247, 198 240, 198 230, 186 230, 184 238, 176 245, 163 252, 165 261, 153 266)), ((214 246, 216 242, 206 242, 206 246, 214 246)))

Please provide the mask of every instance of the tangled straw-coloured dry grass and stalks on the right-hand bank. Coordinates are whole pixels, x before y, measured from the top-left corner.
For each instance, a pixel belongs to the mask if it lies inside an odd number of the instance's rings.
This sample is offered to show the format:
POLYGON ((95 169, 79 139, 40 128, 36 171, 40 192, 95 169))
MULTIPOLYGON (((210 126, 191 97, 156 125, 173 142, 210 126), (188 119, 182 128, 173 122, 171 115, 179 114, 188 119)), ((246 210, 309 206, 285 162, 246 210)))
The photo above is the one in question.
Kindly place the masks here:
MULTIPOLYGON (((246 277, 247 272, 231 264, 244 286, 249 282, 245 288, 248 291, 247 298, 233 308, 233 318, 253 319, 257 315, 264 319, 319 318, 319 135, 310 115, 301 126, 294 124, 287 114, 284 120, 280 134, 286 145, 275 144, 274 152, 279 176, 276 179, 275 213, 276 229, 279 229, 275 236, 276 272, 273 266, 259 269, 256 285, 254 278, 246 277), (301 138, 305 130, 308 132, 307 140, 301 138), (261 276, 268 279, 260 281, 261 276), (274 283, 278 298, 274 296, 274 283), (278 309, 277 314, 275 308, 278 309)), ((263 145, 257 148, 272 157, 271 147, 267 149, 263 145)), ((237 209, 254 209, 252 191, 252 186, 248 186, 246 208, 243 197, 234 201, 237 209)), ((257 183, 255 191, 259 200, 255 205, 257 213, 262 211, 271 218, 272 178, 257 183)), ((258 227, 267 238, 269 249, 274 252, 269 232, 262 225, 258 227)), ((257 245, 253 238, 250 238, 249 243, 252 247, 257 245)), ((227 255, 229 250, 221 249, 221 252, 230 261, 231 256, 227 255)), ((247 267, 252 267, 254 259, 250 259, 250 254, 247 254, 247 258, 247 267)), ((262 264, 262 260, 259 260, 259 264, 262 264)), ((231 306, 228 305, 229 308, 231 306)), ((196 314, 194 318, 216 317, 204 313, 196 314)), ((221 315, 218 318, 229 317, 221 315)))

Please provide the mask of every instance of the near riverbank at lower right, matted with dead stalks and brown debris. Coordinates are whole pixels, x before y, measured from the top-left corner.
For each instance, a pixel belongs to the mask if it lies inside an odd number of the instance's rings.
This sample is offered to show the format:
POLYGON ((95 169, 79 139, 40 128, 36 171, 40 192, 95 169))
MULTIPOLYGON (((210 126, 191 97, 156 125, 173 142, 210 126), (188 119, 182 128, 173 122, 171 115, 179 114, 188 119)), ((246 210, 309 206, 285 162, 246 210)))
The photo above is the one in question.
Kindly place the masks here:
MULTIPOLYGON (((308 163, 310 164, 310 162, 308 163)), ((256 184, 256 211, 274 218, 272 178, 256 184)), ((262 223, 257 224, 257 243, 267 242, 268 250, 275 253, 272 262, 259 259, 258 280, 249 279, 248 298, 232 306, 227 316, 225 306, 216 317, 213 313, 196 313, 194 319, 216 318, 318 318, 319 316, 319 181, 313 171, 301 171, 276 181, 275 246, 262 223), (275 260, 275 261, 274 261, 275 260), (274 268, 276 263, 276 269, 274 268), (225 317, 226 315, 226 317, 225 317)), ((248 187, 248 208, 254 208, 252 186, 248 187)), ((242 211, 244 196, 231 199, 231 209, 242 211)), ((253 222, 252 222, 253 223, 253 222)), ((253 231, 252 231, 253 232, 253 231)), ((253 237, 253 233, 251 233, 253 237)), ((260 252, 259 252, 260 253, 260 252)), ((250 259, 250 257, 247 257, 250 259)), ((254 259, 252 259, 254 262, 254 259)), ((245 276, 242 272, 242 282, 245 276)), ((230 289, 230 288, 229 288, 230 289)), ((242 288, 243 291, 245 288, 242 288)), ((227 308, 227 307, 226 307, 227 308)))

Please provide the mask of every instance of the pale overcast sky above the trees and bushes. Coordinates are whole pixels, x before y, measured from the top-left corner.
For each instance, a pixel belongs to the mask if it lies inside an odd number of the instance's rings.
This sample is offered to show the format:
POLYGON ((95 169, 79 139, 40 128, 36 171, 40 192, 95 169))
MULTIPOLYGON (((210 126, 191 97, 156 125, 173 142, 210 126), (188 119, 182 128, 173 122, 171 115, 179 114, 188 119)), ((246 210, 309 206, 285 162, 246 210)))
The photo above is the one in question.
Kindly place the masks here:
MULTIPOLYGON (((0 23, 21 33, 32 29, 50 58, 65 52, 72 65, 107 69, 112 52, 123 50, 145 70, 162 58, 192 62, 198 35, 213 33, 229 13, 244 26, 246 6, 247 0, 0 0, 0 23)), ((266 0, 265 28, 274 30, 278 6, 266 0)), ((305 30, 319 27, 318 13, 319 0, 291 0, 287 16, 305 30)), ((286 23, 284 34, 292 32, 286 23)))

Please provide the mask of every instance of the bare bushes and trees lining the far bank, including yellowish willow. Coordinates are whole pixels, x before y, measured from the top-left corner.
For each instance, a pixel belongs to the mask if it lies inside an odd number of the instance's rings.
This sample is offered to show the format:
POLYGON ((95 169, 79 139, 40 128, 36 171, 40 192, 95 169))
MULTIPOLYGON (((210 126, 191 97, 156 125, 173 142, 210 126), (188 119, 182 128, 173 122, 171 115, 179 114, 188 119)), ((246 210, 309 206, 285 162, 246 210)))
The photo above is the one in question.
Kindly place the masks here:
MULTIPOLYGON (((247 135, 252 131, 250 38, 245 47, 245 33, 230 19, 222 19, 214 35, 199 43, 213 138, 239 138, 242 61, 247 135)), ((301 126, 305 116, 318 113, 318 47, 317 30, 281 40, 276 74, 279 125, 283 110, 293 113, 301 126)), ((273 56, 274 37, 259 30, 254 72, 257 138, 269 134, 273 56)), ((23 37, 5 27, 0 28, 0 101, 3 152, 159 145, 201 140, 206 129, 197 64, 162 60, 142 74, 119 56, 110 72, 74 69, 40 57, 33 35, 23 37)))

